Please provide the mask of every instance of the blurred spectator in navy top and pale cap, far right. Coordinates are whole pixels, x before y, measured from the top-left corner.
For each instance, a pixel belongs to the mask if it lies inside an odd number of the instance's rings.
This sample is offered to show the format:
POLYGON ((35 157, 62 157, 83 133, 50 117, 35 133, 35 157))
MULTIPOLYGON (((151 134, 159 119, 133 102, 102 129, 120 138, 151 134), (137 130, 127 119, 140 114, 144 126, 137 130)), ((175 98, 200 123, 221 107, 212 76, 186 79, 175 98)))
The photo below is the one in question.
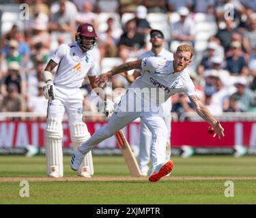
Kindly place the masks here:
POLYGON ((230 48, 231 55, 226 58, 227 65, 225 69, 227 69, 232 76, 246 76, 248 74, 248 67, 242 56, 240 42, 231 42, 230 48))

